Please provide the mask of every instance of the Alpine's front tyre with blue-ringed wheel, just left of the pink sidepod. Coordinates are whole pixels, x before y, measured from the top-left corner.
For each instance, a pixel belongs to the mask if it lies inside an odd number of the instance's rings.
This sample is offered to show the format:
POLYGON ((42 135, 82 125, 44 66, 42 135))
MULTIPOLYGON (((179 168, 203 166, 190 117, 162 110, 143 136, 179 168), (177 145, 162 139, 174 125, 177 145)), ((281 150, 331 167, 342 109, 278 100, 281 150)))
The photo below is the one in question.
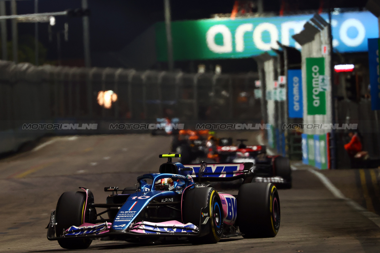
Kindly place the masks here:
MULTIPOLYGON (((199 187, 192 188, 184 193, 182 200, 182 218, 184 223, 193 223, 198 226, 201 217, 206 213, 209 219, 206 225, 201 225, 199 234, 201 237, 190 237, 192 244, 214 244, 217 243, 223 234, 223 208, 219 194, 214 188, 199 187), (202 213, 203 209, 203 213, 202 213), (207 234, 203 235, 204 231, 207 234)), ((204 220, 204 219, 203 219, 204 220)))

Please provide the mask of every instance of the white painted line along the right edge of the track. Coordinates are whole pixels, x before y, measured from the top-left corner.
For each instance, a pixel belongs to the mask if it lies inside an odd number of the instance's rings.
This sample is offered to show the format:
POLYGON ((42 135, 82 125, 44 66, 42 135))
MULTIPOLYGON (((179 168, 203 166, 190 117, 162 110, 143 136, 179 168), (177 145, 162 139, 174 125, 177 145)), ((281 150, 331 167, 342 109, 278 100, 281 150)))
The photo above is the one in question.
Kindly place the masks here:
MULTIPOLYGON (((261 134, 259 134, 257 136, 257 141, 259 142, 260 145, 264 145, 261 134)), ((274 154, 270 149, 267 149, 267 153, 269 155, 274 154), (268 151, 270 151, 270 152, 268 152, 268 151)), ((294 165, 291 165, 291 169, 292 170, 298 170, 299 168, 297 168, 294 165)), ((316 177, 318 177, 318 179, 323 183, 323 185, 325 185, 325 187, 332 193, 332 195, 334 195, 335 198, 343 199, 348 204, 348 206, 352 207, 357 212, 361 213, 364 217, 371 220, 373 223, 375 223, 380 228, 380 216, 379 215, 377 215, 376 213, 373 213, 373 212, 369 212, 367 209, 360 206, 358 203, 356 203, 352 199, 344 196, 344 194, 338 188, 336 188, 335 185, 333 185, 331 183, 331 181, 325 175, 323 175, 321 172, 318 172, 318 171, 316 171, 314 169, 310 169, 310 168, 307 168, 306 170, 311 172, 312 174, 314 174, 316 177)))

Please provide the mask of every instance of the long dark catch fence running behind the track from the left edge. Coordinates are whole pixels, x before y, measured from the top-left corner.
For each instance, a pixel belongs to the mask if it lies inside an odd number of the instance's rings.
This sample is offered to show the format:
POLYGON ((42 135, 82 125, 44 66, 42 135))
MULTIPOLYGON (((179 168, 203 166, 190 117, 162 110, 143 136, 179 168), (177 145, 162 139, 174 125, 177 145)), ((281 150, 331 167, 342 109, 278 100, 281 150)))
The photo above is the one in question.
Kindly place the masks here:
POLYGON ((213 74, 122 68, 33 66, 0 61, 0 153, 17 150, 41 133, 25 122, 59 120, 261 120, 254 96, 257 73, 213 74), (99 92, 117 100, 105 108, 99 92))

